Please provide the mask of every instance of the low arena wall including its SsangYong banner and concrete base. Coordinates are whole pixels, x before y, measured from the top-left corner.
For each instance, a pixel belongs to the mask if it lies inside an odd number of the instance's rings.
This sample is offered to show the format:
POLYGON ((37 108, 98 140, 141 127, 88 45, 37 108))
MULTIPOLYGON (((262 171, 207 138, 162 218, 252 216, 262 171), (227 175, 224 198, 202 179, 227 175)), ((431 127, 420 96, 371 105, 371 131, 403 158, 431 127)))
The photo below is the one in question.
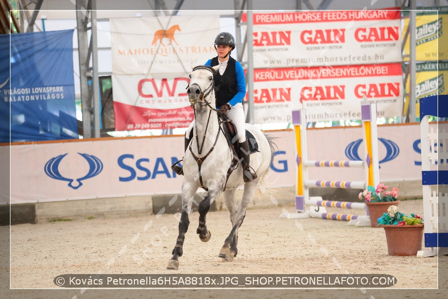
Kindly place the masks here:
MULTIPOLYGON (((309 159, 364 157, 363 147, 353 146, 362 139, 360 127, 314 128, 307 132, 309 159)), ((266 134, 272 135, 277 144, 268 177, 276 192, 268 198, 255 198, 252 207, 293 206, 297 168, 294 132, 278 130, 266 134)), ((400 198, 422 197, 419 134, 418 124, 378 126, 380 181, 397 186, 400 198)), ((7 167, 2 169, 0 204, 3 210, 12 204, 14 223, 156 214, 161 209, 175 213, 181 206, 182 176, 174 174, 170 166, 182 158, 182 150, 182 136, 1 146, 1 158, 10 160, 11 169, 9 175, 7 167)), ((330 179, 338 177, 340 171, 344 171, 347 180, 358 180, 364 175, 362 169, 353 168, 312 169, 310 173, 330 179)), ((356 201, 359 191, 326 188, 312 189, 311 194, 356 201)), ((198 202, 200 197, 201 193, 198 202)), ((212 209, 222 208, 225 209, 220 197, 212 209)))

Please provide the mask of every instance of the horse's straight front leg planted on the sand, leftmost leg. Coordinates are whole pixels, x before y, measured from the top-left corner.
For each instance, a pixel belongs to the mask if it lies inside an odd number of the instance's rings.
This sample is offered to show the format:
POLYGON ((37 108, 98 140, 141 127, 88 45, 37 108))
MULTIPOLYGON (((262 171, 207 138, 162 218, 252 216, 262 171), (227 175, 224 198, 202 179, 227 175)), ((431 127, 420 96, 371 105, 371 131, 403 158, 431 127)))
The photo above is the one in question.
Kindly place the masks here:
MULTIPOLYGON (((190 188, 193 189, 193 188, 190 188)), ((190 224, 189 214, 191 211, 191 205, 193 202, 193 197, 195 191, 188 190, 188 188, 184 188, 182 186, 182 213, 181 219, 179 221, 179 235, 177 236, 176 245, 173 249, 173 257, 168 262, 168 266, 166 269, 168 270, 178 270, 179 269, 179 260, 178 258, 182 256, 183 250, 182 247, 184 245, 185 234, 187 233, 188 226, 190 224)))

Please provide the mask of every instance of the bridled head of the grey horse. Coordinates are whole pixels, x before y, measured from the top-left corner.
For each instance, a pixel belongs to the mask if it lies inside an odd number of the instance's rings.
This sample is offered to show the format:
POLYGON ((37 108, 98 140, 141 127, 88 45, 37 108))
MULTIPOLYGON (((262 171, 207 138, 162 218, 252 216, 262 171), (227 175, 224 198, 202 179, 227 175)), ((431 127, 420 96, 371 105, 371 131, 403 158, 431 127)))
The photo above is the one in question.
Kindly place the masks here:
MULTIPOLYGON (((196 66, 189 74, 190 83, 187 89, 188 100, 191 105, 202 102, 213 90, 213 75, 216 74, 219 66, 196 66)), ((213 98, 213 97, 212 97, 213 98)), ((215 103, 210 103, 215 106, 215 103)))

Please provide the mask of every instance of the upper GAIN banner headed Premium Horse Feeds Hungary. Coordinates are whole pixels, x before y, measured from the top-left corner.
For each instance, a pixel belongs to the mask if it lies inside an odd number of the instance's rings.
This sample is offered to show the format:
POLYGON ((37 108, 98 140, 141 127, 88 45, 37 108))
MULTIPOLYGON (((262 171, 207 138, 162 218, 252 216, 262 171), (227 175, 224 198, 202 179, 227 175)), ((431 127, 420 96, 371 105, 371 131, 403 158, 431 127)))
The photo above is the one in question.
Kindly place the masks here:
POLYGON ((255 68, 402 61, 399 8, 253 14, 255 68))

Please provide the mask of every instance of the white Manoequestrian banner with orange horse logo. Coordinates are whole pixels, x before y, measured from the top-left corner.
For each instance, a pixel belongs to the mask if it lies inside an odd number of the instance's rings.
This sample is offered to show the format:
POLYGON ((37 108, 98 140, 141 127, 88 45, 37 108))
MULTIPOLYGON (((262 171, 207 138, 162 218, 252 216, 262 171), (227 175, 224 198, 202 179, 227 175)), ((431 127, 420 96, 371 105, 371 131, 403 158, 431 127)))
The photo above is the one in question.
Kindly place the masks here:
POLYGON ((110 24, 113 74, 185 76, 192 64, 216 56, 219 15, 113 18, 110 24))

